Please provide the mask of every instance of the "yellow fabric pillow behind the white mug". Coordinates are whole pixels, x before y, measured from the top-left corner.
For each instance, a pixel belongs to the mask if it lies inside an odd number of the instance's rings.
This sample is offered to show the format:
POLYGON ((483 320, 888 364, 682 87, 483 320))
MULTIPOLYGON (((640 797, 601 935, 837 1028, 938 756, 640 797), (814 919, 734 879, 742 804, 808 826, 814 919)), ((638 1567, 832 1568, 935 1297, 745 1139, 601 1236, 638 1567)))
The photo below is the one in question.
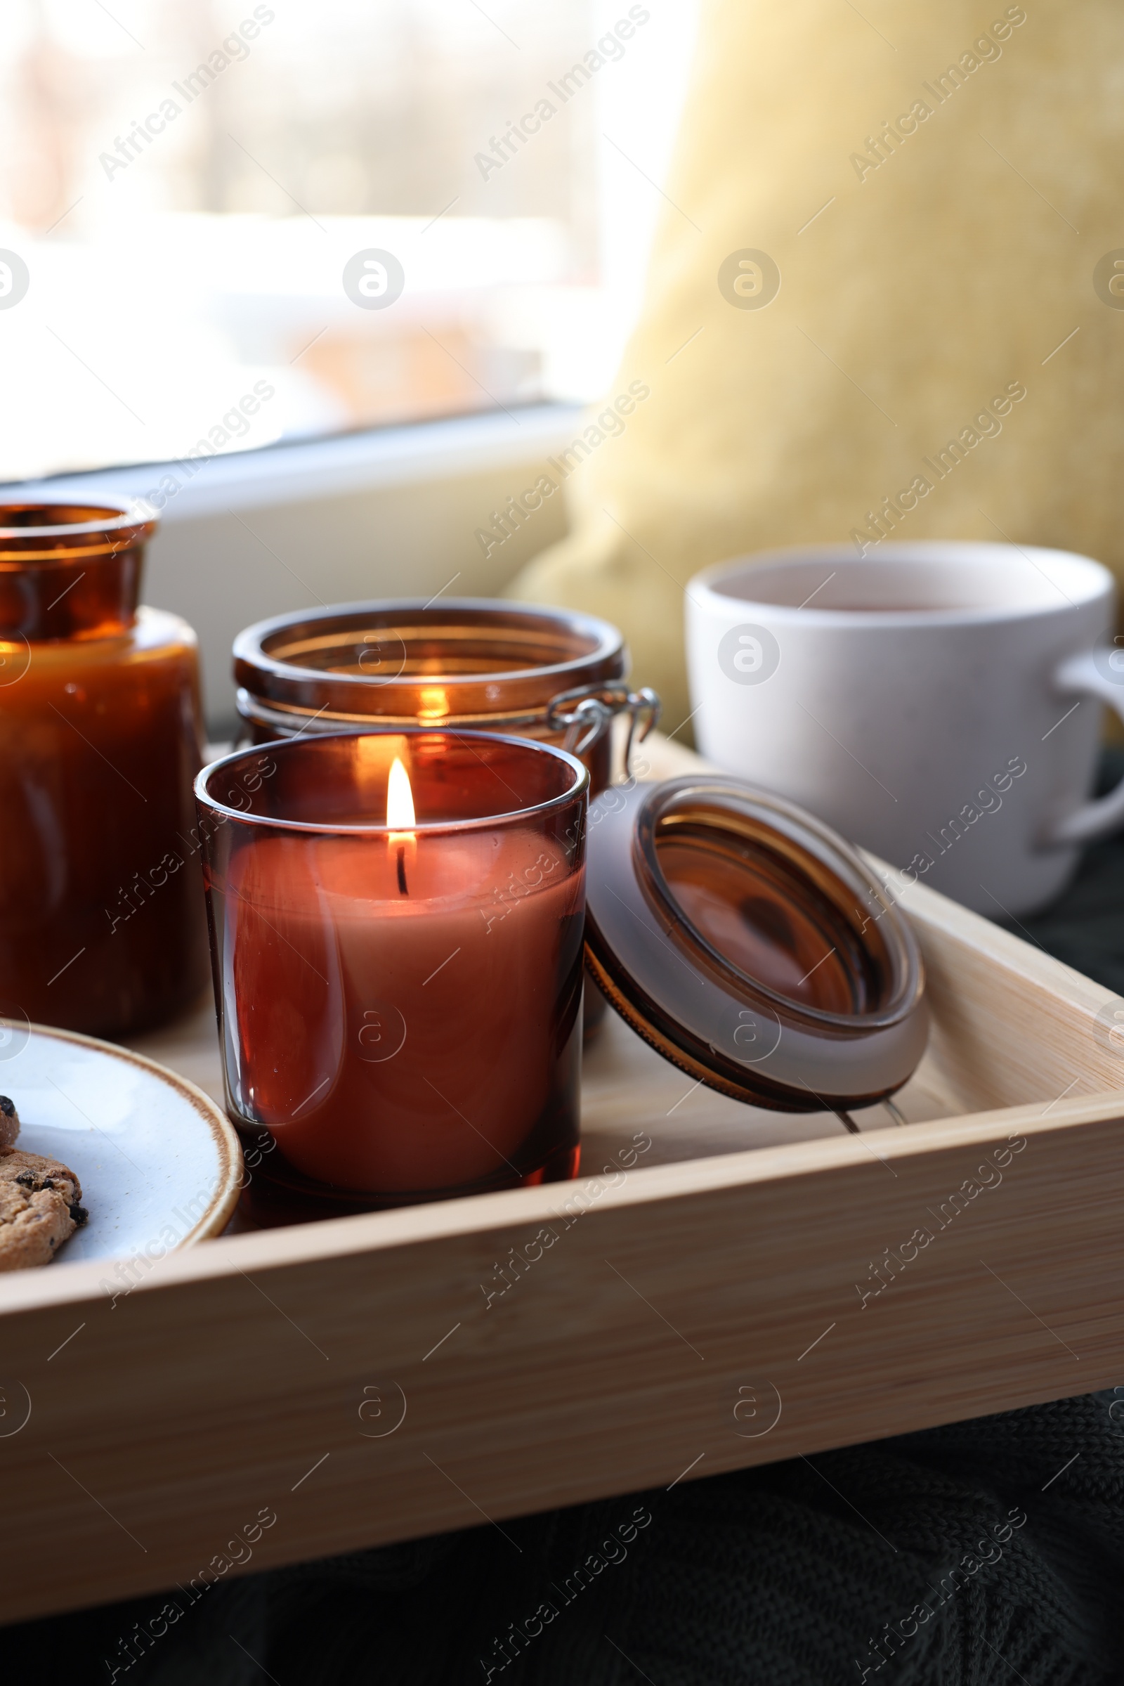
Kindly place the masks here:
POLYGON ((624 627, 671 730, 682 585, 725 556, 984 538, 1119 575, 1122 84, 1119 0, 704 0, 640 320, 551 470, 571 533, 511 593, 624 627))

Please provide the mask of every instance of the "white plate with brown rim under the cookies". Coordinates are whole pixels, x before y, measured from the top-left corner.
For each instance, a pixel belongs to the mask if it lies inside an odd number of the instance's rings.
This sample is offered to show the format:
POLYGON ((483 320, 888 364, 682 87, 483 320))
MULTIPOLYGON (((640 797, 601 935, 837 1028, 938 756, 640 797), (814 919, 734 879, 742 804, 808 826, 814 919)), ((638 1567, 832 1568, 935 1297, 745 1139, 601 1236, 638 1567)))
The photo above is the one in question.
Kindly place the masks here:
POLYGON ((83 1185, 89 1221, 57 1263, 155 1263, 229 1222, 243 1170, 238 1136, 185 1077, 110 1042, 0 1020, 0 1094, 20 1114, 15 1146, 52 1153, 83 1185))

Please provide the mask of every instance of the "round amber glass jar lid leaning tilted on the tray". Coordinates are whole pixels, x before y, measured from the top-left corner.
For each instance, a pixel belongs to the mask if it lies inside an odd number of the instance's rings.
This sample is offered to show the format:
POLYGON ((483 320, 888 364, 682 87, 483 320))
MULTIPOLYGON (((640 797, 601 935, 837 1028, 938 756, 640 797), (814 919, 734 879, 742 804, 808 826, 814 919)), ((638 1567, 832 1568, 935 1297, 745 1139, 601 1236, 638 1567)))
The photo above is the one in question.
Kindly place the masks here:
POLYGON ((917 941, 863 858, 738 779, 590 806, 586 958, 613 1007, 713 1089, 780 1111, 885 1099, 925 1052, 917 941))

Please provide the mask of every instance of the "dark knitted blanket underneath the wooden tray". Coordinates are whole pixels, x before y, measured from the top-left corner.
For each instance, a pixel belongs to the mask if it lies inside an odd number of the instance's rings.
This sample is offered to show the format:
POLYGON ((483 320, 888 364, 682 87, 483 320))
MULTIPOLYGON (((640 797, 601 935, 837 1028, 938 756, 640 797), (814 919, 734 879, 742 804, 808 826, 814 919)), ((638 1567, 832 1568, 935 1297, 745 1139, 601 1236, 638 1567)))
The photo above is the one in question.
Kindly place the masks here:
MULTIPOLYGON (((1124 995, 1124 843, 1021 929, 1124 995)), ((1124 1686, 1124 1386, 248 1576, 123 1667, 162 1603, 8 1629, 3 1678, 1124 1686)))

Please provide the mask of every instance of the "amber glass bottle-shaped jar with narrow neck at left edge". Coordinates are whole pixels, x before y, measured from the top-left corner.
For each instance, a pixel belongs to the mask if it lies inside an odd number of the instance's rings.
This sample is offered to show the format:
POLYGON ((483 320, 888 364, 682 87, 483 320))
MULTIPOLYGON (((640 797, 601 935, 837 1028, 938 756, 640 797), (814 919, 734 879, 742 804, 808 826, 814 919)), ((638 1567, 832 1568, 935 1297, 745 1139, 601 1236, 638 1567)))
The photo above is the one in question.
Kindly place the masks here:
POLYGON ((145 506, 0 504, 0 1012, 120 1037, 206 983, 195 634, 145 506))

